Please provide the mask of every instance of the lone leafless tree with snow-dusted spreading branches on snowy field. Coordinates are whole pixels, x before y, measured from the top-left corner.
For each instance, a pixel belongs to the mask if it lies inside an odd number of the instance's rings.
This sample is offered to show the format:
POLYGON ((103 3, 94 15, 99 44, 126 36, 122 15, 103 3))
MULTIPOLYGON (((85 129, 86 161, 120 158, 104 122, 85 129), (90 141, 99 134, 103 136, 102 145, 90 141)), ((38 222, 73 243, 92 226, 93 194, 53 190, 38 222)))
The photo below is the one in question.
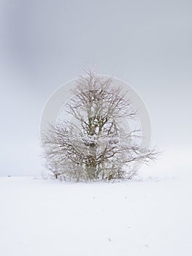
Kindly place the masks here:
POLYGON ((137 118, 124 92, 112 80, 88 72, 77 80, 66 104, 70 121, 49 125, 42 139, 47 168, 61 180, 93 181, 132 178, 135 162, 155 159, 142 148, 139 130, 127 131, 123 120, 137 118))

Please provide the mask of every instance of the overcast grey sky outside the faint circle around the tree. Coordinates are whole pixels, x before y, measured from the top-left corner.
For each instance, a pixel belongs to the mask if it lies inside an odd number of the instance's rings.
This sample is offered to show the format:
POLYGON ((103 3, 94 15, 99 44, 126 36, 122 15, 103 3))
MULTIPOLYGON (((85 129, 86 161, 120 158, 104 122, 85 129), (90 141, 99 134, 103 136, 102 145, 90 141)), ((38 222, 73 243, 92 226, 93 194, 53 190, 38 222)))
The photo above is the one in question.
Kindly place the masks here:
POLYGON ((42 110, 86 67, 130 83, 153 145, 191 167, 191 14, 190 0, 1 0, 0 176, 41 172, 42 110))

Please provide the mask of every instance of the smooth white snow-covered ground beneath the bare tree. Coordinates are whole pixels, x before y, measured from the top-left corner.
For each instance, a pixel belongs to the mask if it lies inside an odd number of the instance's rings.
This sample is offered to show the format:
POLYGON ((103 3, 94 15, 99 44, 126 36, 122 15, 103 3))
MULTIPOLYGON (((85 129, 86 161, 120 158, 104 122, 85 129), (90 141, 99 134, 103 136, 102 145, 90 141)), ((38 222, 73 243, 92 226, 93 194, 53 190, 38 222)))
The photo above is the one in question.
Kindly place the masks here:
POLYGON ((191 256, 192 178, 0 178, 1 256, 191 256))

